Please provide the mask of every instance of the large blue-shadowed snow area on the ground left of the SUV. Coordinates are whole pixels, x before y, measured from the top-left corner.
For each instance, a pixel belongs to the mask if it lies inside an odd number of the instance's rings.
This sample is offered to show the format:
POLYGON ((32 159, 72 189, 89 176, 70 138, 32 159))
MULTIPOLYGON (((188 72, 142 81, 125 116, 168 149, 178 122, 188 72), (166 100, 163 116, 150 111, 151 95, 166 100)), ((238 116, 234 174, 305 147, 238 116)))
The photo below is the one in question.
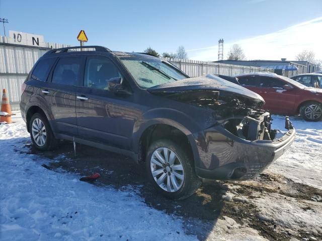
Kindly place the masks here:
POLYGON ((21 119, 0 125, 1 240, 196 239, 185 235, 180 219, 148 207, 131 187, 97 187, 15 152, 28 137, 21 119))

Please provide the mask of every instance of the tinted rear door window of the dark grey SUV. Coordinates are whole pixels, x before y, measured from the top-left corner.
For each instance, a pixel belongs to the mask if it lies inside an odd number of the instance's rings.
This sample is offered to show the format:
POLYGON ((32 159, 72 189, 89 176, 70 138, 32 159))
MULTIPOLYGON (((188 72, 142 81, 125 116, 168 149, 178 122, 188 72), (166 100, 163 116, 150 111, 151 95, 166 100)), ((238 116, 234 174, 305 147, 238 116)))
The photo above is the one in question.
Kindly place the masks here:
POLYGON ((79 70, 81 69, 82 58, 66 57, 58 60, 52 74, 52 83, 78 85, 79 70))

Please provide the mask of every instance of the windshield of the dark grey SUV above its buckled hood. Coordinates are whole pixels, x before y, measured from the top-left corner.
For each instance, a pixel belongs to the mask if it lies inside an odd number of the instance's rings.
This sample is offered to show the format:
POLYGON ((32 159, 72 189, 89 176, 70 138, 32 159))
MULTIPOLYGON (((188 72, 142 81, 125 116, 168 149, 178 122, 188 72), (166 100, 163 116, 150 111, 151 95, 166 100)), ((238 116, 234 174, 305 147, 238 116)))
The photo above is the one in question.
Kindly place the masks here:
POLYGON ((120 58, 122 63, 142 88, 174 82, 187 77, 174 67, 152 58, 120 58))

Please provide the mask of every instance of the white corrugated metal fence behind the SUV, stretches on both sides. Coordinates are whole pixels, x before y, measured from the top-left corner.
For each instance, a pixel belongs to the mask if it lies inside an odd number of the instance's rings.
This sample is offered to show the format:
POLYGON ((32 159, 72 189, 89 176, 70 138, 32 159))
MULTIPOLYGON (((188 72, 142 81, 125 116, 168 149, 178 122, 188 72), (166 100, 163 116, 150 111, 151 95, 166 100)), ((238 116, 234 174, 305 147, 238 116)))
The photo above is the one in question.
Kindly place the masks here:
MULTIPOLYGON (((26 79, 35 62, 50 48, 63 48, 68 46, 55 43, 46 43, 46 48, 15 46, 8 44, 7 37, 0 36, 0 89, 7 89, 12 109, 19 109, 21 84, 26 79)), ((185 59, 162 59, 172 62, 191 77, 209 73, 234 75, 249 72, 272 72, 272 69, 260 67, 185 59)))

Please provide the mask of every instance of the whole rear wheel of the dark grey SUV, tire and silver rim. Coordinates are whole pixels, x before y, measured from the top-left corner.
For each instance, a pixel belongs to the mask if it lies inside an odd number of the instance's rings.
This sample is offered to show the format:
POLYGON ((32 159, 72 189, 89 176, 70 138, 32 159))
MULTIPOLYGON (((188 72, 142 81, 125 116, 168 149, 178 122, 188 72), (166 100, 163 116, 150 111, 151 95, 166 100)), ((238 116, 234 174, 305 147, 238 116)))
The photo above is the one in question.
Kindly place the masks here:
POLYGON ((35 113, 31 117, 29 131, 31 140, 38 150, 47 151, 56 147, 57 139, 51 131, 48 119, 43 114, 35 113))

